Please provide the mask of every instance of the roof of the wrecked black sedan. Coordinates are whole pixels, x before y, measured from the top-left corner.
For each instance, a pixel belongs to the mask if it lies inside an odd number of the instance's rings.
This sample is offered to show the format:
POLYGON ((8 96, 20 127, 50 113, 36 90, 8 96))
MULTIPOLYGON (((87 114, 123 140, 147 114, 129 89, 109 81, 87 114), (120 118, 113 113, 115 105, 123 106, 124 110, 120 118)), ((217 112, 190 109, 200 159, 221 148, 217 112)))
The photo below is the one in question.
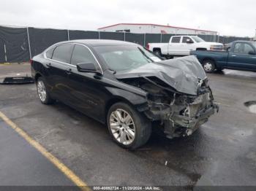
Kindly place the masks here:
POLYGON ((135 44, 135 43, 132 43, 132 42, 124 42, 124 41, 108 40, 108 39, 78 39, 78 40, 59 42, 57 44, 64 44, 64 43, 79 43, 79 44, 89 45, 91 47, 118 46, 118 45, 135 46, 135 45, 138 45, 138 44, 135 44))

